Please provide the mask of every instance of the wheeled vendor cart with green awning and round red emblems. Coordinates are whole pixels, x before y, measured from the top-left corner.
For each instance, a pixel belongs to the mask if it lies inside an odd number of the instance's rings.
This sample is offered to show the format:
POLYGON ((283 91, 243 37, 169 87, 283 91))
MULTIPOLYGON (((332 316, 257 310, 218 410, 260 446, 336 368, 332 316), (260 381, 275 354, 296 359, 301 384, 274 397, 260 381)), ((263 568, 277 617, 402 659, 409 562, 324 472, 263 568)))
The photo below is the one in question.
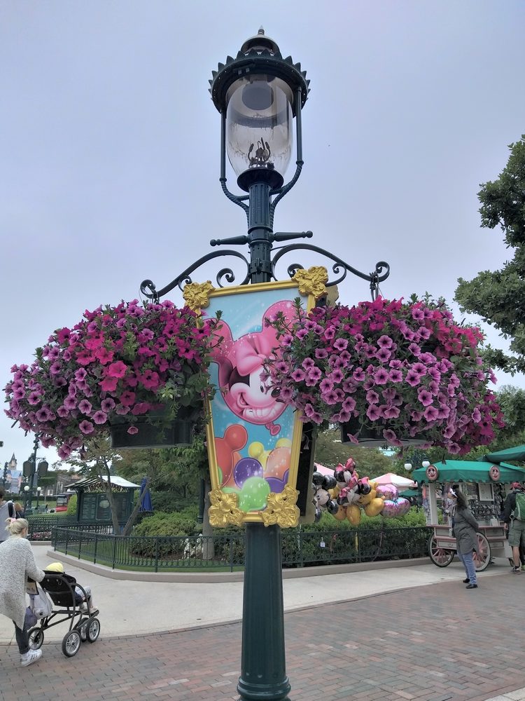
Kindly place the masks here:
POLYGON ((453 484, 468 498, 468 505, 479 523, 478 550, 473 553, 477 572, 482 572, 493 557, 512 560, 512 549, 501 520, 505 497, 512 482, 523 482, 525 470, 507 463, 446 460, 428 464, 412 472, 421 487, 426 524, 431 529, 428 554, 438 567, 447 567, 456 554, 456 538, 451 533, 448 494, 453 484), (442 512, 443 523, 438 523, 442 512))

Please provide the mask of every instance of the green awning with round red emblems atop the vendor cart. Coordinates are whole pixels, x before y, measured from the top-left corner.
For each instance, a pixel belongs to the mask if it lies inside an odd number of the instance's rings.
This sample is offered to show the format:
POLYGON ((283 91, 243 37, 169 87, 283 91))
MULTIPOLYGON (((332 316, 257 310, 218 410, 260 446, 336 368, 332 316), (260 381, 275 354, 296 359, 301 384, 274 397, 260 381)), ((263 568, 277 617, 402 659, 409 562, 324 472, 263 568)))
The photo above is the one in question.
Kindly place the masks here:
POLYGON ((509 482, 524 482, 525 480, 523 468, 506 463, 496 465, 500 471, 498 479, 491 478, 489 470, 494 467, 494 463, 489 461, 446 460, 433 463, 433 465, 439 472, 437 479, 428 479, 426 468, 414 470, 411 473, 412 479, 415 479, 418 484, 428 484, 429 482, 499 482, 507 484, 509 482))

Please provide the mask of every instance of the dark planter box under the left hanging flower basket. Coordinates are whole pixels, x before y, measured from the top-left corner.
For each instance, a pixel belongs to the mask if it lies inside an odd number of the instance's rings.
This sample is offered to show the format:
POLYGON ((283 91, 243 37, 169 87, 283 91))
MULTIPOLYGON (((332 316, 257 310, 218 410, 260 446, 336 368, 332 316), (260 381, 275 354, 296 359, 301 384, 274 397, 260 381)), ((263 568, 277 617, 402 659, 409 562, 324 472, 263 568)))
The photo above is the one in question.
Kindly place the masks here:
POLYGON ((110 428, 112 448, 173 448, 190 445, 193 440, 192 419, 189 409, 180 409, 177 418, 162 421, 163 412, 150 412, 145 416, 134 416, 131 421, 125 416, 112 423, 110 428), (127 433, 130 426, 138 428, 137 433, 127 433))

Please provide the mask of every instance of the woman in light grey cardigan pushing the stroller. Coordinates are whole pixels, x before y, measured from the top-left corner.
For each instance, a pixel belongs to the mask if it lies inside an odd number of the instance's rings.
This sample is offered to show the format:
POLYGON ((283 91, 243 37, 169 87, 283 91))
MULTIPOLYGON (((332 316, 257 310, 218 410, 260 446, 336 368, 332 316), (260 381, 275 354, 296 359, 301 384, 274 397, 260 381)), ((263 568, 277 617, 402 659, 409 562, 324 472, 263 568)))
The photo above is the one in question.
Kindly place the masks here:
POLYGON ((7 529, 9 538, 0 543, 0 613, 15 624, 20 664, 28 667, 41 658, 42 651, 29 649, 25 597, 27 578, 41 582, 45 573, 36 566, 31 544, 26 540, 26 519, 7 519, 7 529))

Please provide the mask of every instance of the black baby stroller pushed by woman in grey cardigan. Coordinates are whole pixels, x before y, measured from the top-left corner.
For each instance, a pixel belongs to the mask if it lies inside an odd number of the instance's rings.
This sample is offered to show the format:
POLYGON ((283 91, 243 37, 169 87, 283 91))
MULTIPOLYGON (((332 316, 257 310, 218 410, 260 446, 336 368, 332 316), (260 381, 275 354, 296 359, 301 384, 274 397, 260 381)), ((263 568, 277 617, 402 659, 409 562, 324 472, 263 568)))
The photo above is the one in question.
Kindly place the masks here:
POLYGON ((97 618, 99 611, 92 607, 90 595, 74 577, 65 573, 45 571, 40 587, 51 599, 52 611, 43 615, 39 624, 29 629, 31 649, 41 648, 44 631, 64 621, 69 621, 69 631, 62 640, 62 652, 66 657, 76 655, 80 643, 86 640, 94 643, 97 640, 100 632, 100 622, 97 618))

